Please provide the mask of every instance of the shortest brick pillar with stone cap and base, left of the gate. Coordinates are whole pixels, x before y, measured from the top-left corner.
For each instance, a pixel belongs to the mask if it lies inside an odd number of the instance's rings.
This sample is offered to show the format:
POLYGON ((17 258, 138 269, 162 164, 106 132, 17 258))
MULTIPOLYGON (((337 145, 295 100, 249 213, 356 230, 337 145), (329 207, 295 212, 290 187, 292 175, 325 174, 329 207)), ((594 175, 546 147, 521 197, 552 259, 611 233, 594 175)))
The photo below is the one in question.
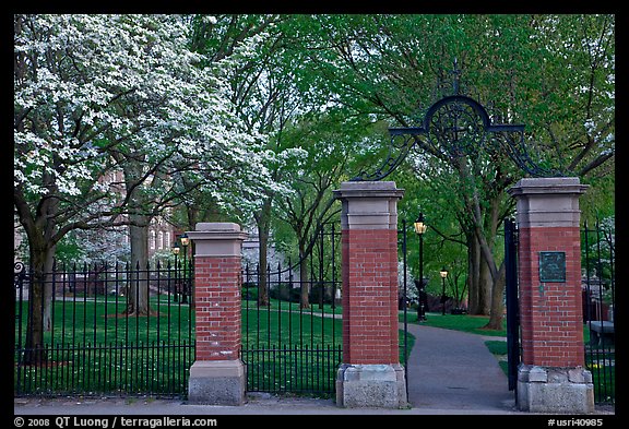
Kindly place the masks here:
POLYGON ((240 360, 240 250, 247 237, 230 223, 200 223, 194 241, 197 355, 188 400, 193 404, 242 405, 246 374, 240 360))

